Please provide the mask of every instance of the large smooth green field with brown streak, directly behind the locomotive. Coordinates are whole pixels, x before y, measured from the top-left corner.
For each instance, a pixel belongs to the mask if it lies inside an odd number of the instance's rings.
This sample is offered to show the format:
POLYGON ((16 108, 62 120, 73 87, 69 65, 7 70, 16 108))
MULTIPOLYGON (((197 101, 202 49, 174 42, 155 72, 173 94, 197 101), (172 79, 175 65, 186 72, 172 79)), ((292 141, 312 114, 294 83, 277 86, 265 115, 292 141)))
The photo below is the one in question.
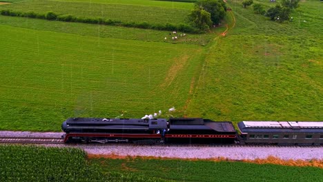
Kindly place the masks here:
POLYGON ((202 47, 0 26, 0 130, 182 108, 202 47))

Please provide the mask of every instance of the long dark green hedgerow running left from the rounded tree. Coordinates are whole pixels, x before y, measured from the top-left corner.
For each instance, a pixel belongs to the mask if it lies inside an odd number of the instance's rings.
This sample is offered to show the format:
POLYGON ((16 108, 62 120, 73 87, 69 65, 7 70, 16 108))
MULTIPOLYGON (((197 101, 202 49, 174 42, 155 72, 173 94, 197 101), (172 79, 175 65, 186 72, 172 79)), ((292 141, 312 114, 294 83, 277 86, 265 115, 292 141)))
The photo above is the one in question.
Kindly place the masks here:
POLYGON ((119 20, 112 19, 102 19, 101 17, 75 17, 71 14, 55 14, 55 12, 47 12, 46 14, 41 14, 38 12, 17 12, 13 10, 1 10, 1 15, 11 16, 11 17, 28 17, 32 19, 47 19, 50 21, 66 21, 66 22, 79 22, 79 23, 91 23, 91 24, 101 24, 109 26, 124 26, 131 28, 144 28, 144 29, 153 29, 153 30, 169 30, 169 31, 181 31, 181 32, 190 32, 190 33, 199 33, 199 30, 193 28, 192 26, 179 23, 179 24, 151 24, 146 21, 144 22, 121 22, 119 20))

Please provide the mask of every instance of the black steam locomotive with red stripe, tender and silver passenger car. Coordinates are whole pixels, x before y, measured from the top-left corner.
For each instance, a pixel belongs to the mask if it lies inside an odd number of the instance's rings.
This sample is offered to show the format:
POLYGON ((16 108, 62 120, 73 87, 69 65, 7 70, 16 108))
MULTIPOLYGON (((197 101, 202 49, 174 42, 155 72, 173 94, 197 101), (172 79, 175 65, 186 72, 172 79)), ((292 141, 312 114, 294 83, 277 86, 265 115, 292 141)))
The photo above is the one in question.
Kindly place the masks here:
POLYGON ((61 130, 65 143, 323 145, 323 121, 69 118, 61 130))

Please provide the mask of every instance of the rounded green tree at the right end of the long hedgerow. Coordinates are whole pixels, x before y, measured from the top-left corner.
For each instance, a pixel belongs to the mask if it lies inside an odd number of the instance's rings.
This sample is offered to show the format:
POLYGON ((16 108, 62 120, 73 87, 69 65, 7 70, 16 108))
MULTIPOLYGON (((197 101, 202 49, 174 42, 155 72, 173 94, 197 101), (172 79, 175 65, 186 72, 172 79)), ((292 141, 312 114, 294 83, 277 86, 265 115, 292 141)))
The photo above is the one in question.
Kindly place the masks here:
POLYGON ((211 13, 206 12, 202 8, 195 8, 188 14, 188 19, 193 23, 193 26, 199 30, 208 30, 212 25, 211 13))

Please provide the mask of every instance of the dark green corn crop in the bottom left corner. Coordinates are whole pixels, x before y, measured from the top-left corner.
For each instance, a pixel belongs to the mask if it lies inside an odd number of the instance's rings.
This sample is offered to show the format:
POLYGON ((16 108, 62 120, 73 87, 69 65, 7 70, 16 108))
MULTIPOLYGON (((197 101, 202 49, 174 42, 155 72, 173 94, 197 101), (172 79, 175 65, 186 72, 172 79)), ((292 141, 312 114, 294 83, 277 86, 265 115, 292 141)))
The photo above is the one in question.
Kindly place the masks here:
POLYGON ((0 181, 157 181, 128 172, 104 174, 75 148, 0 145, 0 161, 0 181))

